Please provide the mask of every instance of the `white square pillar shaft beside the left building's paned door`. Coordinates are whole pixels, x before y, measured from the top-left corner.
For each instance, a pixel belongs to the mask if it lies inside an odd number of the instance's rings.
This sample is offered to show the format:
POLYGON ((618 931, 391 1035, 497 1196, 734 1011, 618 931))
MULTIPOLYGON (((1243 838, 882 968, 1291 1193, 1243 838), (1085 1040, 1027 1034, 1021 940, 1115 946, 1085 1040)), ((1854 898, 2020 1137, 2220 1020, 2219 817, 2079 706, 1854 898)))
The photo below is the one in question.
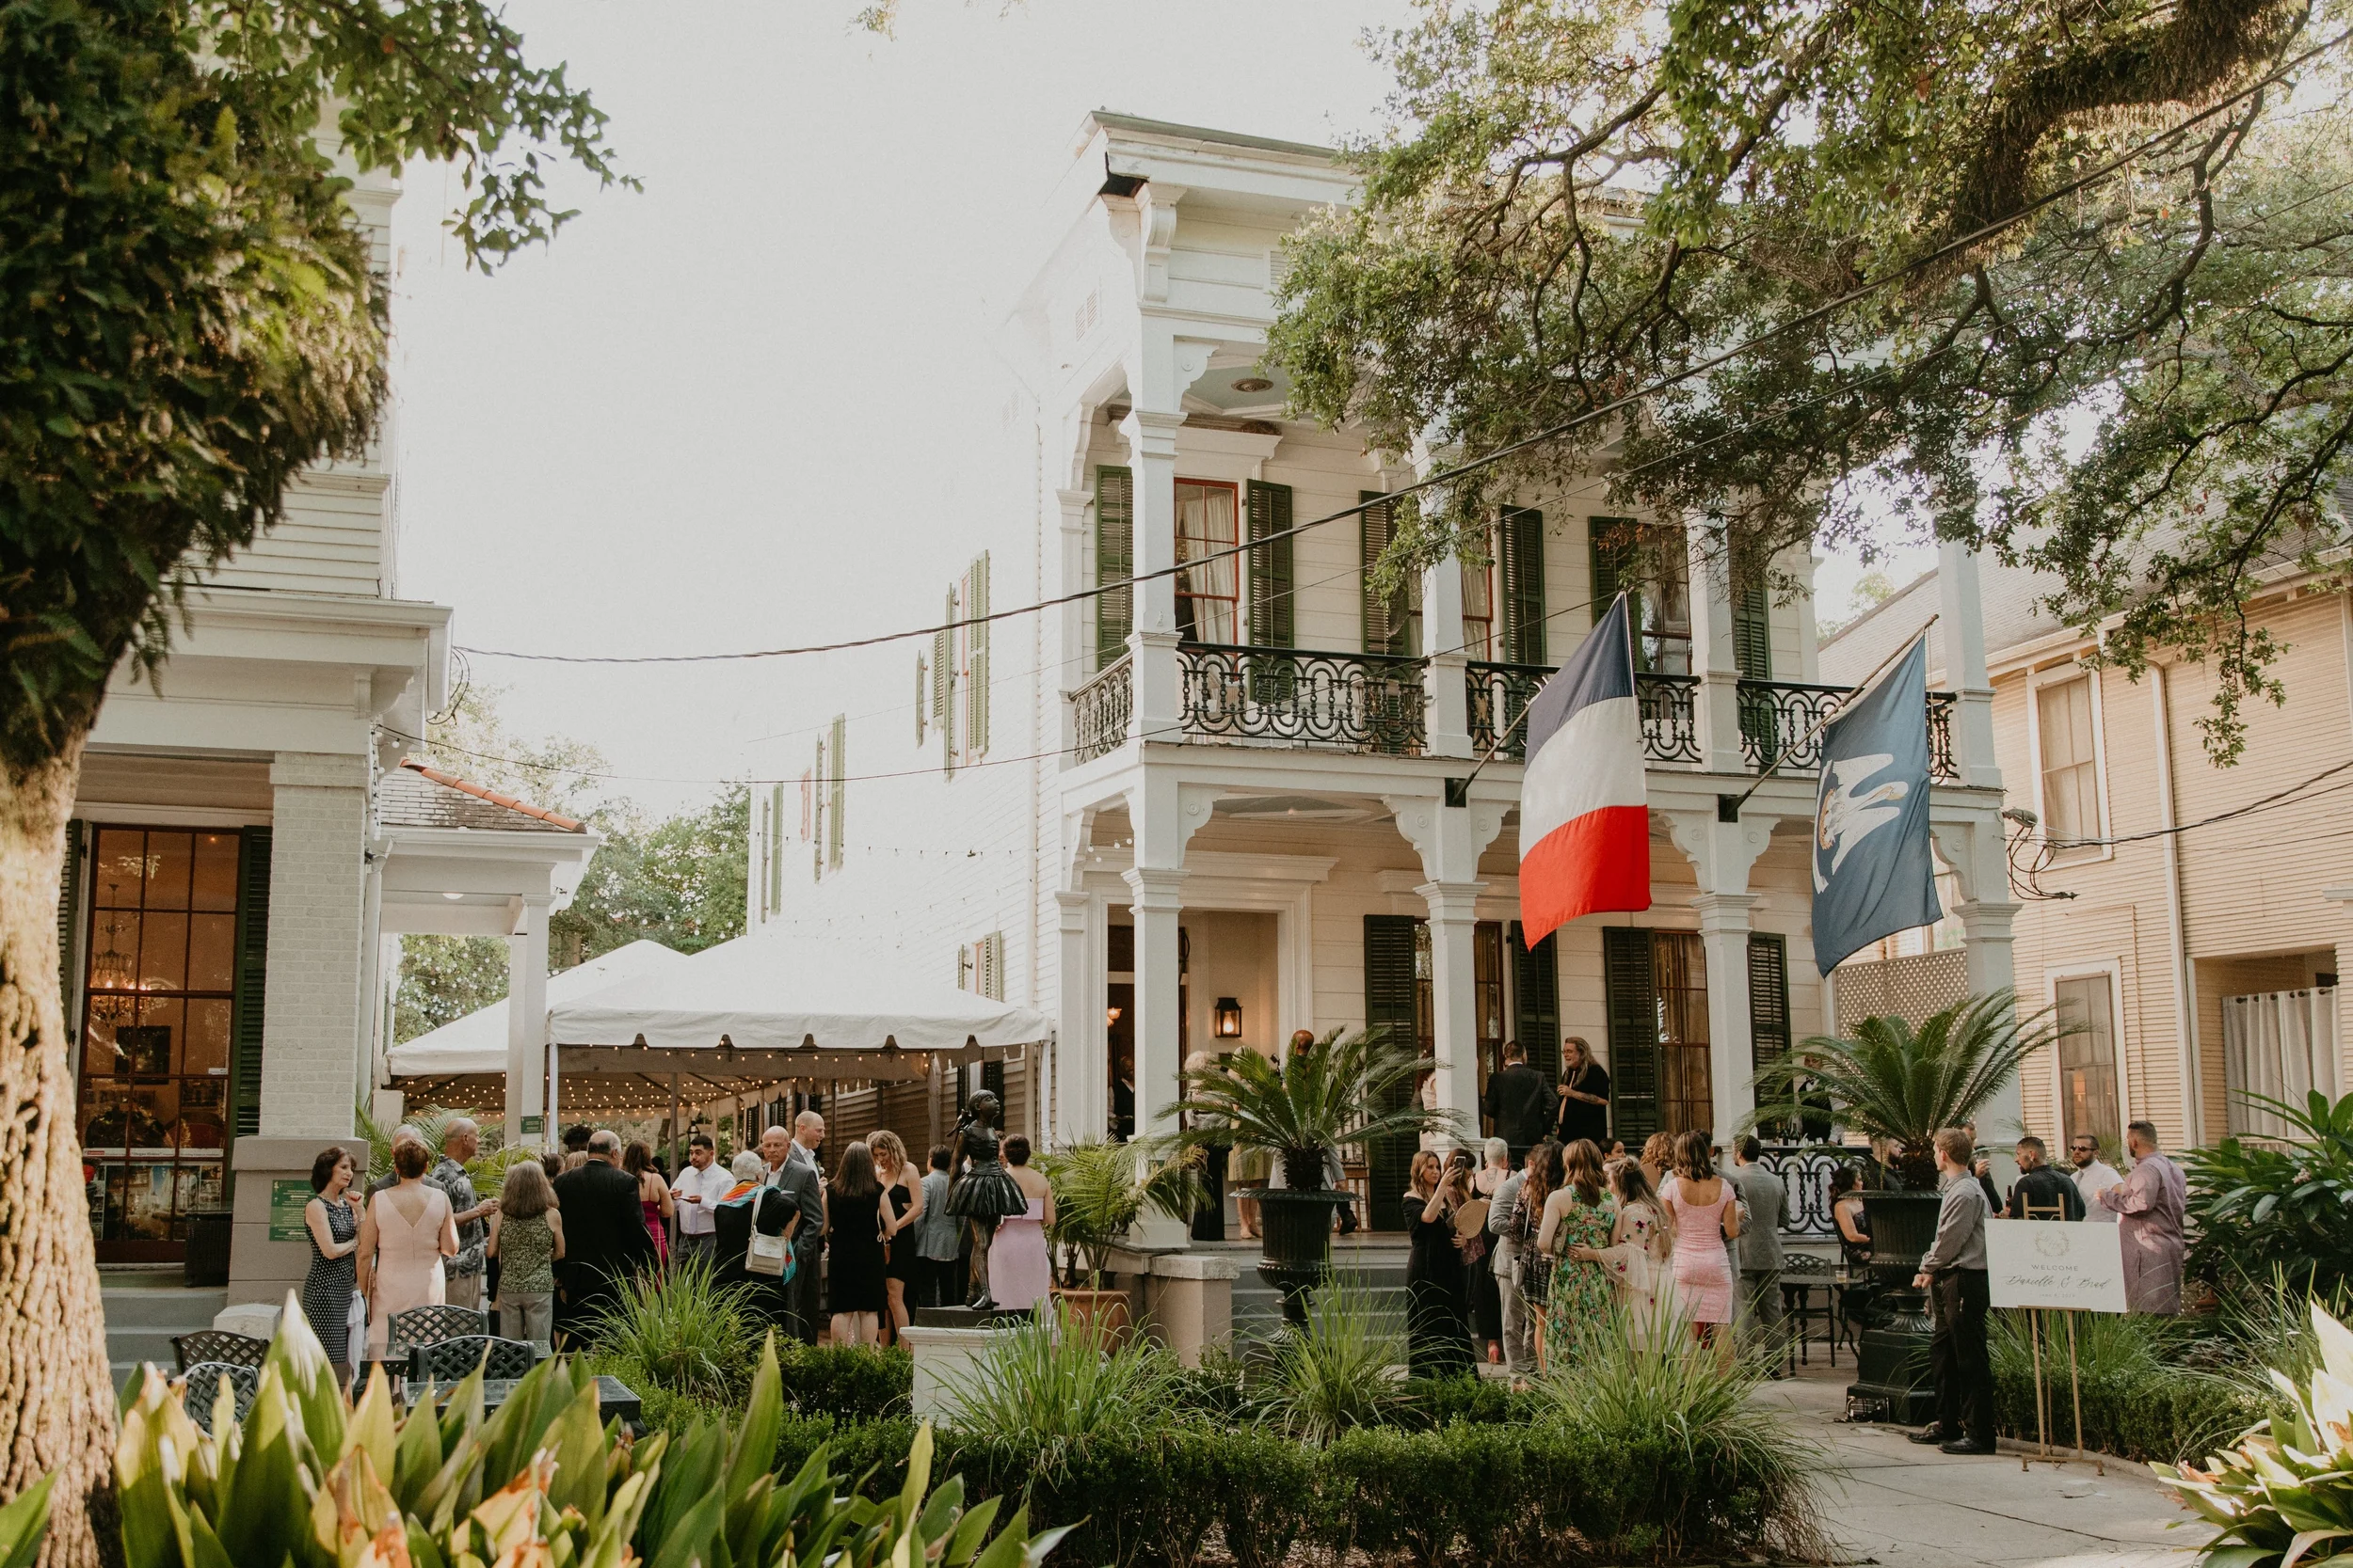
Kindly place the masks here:
POLYGON ((271 983, 264 1138, 348 1138, 362 1051, 367 757, 271 762, 271 983))

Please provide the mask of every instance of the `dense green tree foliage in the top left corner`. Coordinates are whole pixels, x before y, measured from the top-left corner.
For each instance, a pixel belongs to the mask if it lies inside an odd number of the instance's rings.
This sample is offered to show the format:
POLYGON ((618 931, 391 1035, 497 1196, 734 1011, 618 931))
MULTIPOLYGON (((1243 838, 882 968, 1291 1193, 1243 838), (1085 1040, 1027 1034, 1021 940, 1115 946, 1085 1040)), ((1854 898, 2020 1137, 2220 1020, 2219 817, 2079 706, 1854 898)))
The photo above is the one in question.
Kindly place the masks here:
POLYGON ((384 289, 336 148, 464 165, 485 266, 572 216, 551 155, 626 181, 487 0, 14 0, 0 96, 0 759, 26 769, 125 656, 160 665, 186 583, 304 465, 372 435, 384 289))

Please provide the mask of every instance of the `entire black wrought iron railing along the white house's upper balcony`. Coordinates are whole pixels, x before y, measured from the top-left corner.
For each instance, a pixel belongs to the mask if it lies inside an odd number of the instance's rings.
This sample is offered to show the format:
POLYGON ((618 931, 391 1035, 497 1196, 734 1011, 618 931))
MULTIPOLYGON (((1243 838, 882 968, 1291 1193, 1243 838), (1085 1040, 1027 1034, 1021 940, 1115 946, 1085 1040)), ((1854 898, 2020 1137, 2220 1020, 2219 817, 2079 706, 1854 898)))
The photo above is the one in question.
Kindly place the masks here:
MULTIPOLYGON (((1471 661, 1468 729, 1475 757, 1522 759, 1522 715, 1551 665, 1471 661)), ((1638 672, 1642 755, 1652 764, 1697 769, 1704 757, 1697 675, 1638 672)), ((1751 771, 1821 766, 1817 724, 1845 686, 1744 679, 1739 684, 1741 755, 1751 771)), ((1332 654, 1186 642, 1176 649, 1179 731, 1184 741, 1224 745, 1294 745, 1386 757, 1419 757, 1428 741, 1424 661, 1391 654, 1332 654)), ((1929 766, 1958 778, 1953 693, 1927 693, 1929 766)), ((1071 693, 1073 755, 1094 762, 1127 741, 1134 712, 1134 656, 1122 656, 1071 693)))

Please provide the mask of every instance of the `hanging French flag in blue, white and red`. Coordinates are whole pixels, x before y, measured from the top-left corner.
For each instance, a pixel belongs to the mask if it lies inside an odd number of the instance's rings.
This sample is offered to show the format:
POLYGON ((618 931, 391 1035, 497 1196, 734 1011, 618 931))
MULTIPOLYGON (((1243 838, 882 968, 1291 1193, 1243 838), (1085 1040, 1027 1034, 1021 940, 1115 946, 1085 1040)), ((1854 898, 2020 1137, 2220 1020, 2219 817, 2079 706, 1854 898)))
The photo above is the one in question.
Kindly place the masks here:
POLYGON ((1649 907, 1649 809, 1633 635, 1619 595, 1527 705, 1520 926, 1529 943, 1595 910, 1649 907))

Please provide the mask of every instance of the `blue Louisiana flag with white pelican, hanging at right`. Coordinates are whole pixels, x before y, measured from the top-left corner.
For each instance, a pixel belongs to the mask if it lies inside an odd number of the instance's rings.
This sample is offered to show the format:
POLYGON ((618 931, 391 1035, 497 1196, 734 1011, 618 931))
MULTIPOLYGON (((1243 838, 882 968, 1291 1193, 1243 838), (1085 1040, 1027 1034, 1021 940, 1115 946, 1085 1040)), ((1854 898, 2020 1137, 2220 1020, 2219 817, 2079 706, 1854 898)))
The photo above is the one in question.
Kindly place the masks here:
POLYGON ((1927 851, 1927 639, 1821 729, 1814 964, 1937 922, 1927 851))

